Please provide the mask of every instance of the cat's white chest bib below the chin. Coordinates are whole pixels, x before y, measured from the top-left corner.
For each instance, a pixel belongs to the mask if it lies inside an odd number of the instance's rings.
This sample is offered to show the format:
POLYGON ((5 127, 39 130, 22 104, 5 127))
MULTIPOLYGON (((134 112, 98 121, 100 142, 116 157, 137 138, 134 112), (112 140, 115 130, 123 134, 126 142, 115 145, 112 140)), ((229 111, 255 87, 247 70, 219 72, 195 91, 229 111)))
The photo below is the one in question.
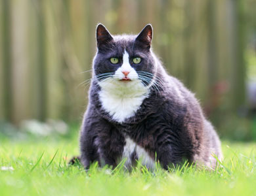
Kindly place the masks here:
POLYGON ((134 116, 146 97, 146 94, 125 97, 122 95, 113 95, 111 92, 103 90, 99 92, 102 107, 112 116, 113 120, 119 123, 134 116))

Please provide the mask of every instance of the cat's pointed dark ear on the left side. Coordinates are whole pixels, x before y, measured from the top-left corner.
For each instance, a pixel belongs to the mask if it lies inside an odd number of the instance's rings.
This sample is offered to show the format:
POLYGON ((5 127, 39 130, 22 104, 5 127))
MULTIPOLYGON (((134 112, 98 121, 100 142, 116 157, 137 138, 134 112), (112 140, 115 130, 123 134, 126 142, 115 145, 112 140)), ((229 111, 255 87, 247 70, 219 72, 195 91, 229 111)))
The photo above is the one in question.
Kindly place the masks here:
POLYGON ((106 27, 104 27, 104 25, 98 24, 96 27, 96 40, 97 46, 100 47, 112 41, 113 37, 110 35, 106 27))

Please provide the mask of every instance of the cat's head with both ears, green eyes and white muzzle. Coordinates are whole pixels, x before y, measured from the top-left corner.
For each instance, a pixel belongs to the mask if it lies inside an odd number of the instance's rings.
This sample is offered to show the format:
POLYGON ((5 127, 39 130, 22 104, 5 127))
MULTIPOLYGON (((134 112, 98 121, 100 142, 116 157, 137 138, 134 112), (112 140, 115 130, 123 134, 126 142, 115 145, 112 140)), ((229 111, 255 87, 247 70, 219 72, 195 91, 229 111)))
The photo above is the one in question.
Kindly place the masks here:
POLYGON ((156 63, 150 50, 152 26, 136 35, 112 36, 99 24, 96 28, 97 53, 93 63, 100 86, 147 88, 154 80, 156 63))

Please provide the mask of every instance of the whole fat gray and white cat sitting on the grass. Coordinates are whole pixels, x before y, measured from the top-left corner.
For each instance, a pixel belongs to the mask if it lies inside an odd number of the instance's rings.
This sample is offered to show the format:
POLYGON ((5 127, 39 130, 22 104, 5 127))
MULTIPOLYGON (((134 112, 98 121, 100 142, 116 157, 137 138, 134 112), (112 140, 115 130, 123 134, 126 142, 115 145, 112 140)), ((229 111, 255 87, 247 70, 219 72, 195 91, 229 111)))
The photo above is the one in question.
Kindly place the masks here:
POLYGON ((112 36, 96 27, 97 52, 89 104, 81 127, 81 162, 88 168, 131 167, 140 159, 163 168, 187 159, 215 168, 222 157, 217 133, 194 97, 169 76, 151 49, 152 26, 136 35, 112 36))

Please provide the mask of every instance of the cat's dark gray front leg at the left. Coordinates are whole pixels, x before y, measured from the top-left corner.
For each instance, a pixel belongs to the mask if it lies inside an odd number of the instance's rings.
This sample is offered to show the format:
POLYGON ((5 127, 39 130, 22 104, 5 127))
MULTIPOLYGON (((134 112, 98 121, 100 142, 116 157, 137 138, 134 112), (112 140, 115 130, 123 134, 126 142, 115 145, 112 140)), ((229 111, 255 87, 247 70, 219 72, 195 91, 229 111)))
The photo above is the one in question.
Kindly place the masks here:
POLYGON ((124 138, 107 120, 89 110, 85 114, 80 137, 81 162, 88 168, 98 161, 100 166, 116 167, 123 152, 124 138))

